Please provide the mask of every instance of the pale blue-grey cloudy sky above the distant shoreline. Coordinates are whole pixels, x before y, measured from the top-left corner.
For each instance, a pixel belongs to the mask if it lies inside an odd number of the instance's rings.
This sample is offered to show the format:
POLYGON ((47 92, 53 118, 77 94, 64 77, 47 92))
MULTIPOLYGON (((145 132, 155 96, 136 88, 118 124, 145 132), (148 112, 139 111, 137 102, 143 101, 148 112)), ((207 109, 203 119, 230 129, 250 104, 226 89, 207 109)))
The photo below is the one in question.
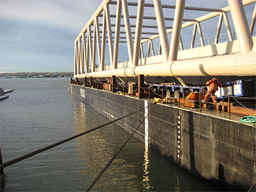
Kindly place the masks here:
MULTIPOLYGON (((0 72, 73 72, 74 40, 101 3, 101 0, 0 0, 0 72)), ((162 3, 175 4, 175 1, 162 3)), ((227 5, 225 0, 186 1, 186 6, 227 5)), ((184 17, 191 17, 189 14, 184 17)), ((193 18, 197 16, 200 15, 193 18)))

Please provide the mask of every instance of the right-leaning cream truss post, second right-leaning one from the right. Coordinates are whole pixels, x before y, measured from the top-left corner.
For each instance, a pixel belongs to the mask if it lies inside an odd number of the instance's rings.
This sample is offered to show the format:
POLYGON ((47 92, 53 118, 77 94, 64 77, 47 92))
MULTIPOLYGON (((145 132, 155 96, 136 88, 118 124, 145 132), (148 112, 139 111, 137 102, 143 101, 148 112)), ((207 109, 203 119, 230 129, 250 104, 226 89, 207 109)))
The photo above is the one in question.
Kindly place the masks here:
POLYGON ((138 66, 139 65, 140 42, 141 42, 141 31, 142 31, 142 23, 143 23, 144 4, 145 4, 145 0, 140 0, 139 3, 138 3, 137 20, 136 20, 136 33, 135 33, 135 40, 134 40, 132 66, 138 66))

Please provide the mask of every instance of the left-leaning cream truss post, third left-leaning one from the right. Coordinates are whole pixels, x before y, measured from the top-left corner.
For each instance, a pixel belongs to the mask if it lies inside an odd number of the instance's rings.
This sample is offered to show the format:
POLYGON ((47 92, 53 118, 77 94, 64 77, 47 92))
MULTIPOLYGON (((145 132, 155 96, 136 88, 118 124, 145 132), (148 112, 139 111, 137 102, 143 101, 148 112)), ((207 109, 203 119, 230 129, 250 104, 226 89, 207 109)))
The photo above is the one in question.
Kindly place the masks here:
POLYGON ((129 54, 130 65, 132 65, 133 58, 133 44, 132 44, 132 33, 131 33, 131 24, 129 19, 129 10, 127 5, 127 0, 122 0, 122 8, 124 13, 124 26, 127 40, 127 49, 129 54))

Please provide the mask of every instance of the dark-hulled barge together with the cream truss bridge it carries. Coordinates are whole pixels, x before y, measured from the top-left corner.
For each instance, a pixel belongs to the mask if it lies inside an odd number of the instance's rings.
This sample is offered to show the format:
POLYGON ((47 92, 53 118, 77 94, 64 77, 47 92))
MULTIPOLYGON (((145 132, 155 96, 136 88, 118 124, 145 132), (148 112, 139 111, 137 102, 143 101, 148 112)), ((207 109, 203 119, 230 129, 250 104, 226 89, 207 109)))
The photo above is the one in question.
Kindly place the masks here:
POLYGON ((160 99, 134 136, 220 190, 246 191, 256 183, 256 125, 239 120, 256 116, 255 0, 228 0, 223 8, 185 4, 102 1, 75 40, 69 91, 110 120, 145 108, 116 122, 127 132, 147 115, 152 98, 160 99), (137 15, 131 15, 131 7, 137 15), (164 9, 173 17, 164 16, 164 9), (192 11, 207 14, 184 17, 192 11), (145 20, 150 22, 143 24, 145 20), (220 35, 223 20, 225 40, 220 35), (212 32, 203 30, 205 22, 208 28, 216 25, 214 41, 202 35, 212 32), (188 28, 193 33, 186 47, 188 28), (124 52, 128 59, 120 60, 124 52), (225 86, 215 93, 217 103, 202 103, 205 82, 212 77, 225 86))

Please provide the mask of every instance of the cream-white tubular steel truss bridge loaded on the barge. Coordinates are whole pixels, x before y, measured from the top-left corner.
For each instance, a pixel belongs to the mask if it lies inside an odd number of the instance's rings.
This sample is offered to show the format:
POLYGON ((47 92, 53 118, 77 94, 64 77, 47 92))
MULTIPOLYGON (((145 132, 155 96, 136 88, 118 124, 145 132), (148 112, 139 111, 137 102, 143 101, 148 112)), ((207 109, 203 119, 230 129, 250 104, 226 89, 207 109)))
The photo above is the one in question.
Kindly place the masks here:
POLYGON ((255 1, 104 0, 75 40, 74 77, 255 76, 255 1))

